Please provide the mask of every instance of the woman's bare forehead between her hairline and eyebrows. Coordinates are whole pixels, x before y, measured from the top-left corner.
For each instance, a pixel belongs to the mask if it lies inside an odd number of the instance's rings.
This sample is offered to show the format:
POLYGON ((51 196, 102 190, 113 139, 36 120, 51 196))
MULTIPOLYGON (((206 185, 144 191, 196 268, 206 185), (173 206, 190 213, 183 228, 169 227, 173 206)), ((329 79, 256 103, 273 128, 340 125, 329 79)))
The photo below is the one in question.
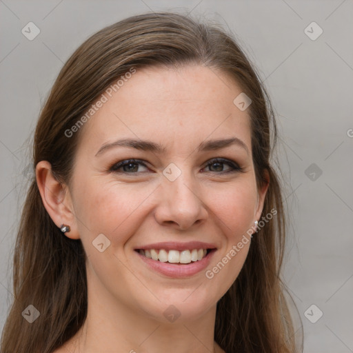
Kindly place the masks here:
POLYGON ((103 92, 103 103, 83 126, 86 152, 121 137, 153 139, 181 151, 208 137, 236 136, 251 150, 247 110, 233 103, 241 88, 223 72, 196 65, 144 68, 114 83, 119 85, 103 92))

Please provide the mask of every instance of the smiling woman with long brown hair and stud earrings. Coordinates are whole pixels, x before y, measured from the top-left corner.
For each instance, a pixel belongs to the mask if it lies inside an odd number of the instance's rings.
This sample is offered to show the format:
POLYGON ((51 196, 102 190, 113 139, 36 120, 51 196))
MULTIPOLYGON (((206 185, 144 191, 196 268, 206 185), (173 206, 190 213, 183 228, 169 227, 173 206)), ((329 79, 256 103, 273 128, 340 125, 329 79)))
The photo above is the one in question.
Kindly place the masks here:
POLYGON ((37 124, 1 353, 297 352, 271 134, 222 30, 153 13, 85 41, 37 124))

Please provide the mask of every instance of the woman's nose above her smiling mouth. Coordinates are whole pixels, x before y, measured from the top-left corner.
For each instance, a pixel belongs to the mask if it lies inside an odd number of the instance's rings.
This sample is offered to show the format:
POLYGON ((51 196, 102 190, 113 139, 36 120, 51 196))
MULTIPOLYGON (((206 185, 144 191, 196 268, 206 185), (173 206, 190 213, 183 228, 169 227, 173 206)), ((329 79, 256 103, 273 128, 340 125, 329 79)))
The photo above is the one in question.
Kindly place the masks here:
POLYGON ((159 203, 154 216, 159 224, 187 230, 207 218, 208 211, 202 201, 201 188, 186 172, 182 172, 174 181, 163 177, 158 192, 159 203))

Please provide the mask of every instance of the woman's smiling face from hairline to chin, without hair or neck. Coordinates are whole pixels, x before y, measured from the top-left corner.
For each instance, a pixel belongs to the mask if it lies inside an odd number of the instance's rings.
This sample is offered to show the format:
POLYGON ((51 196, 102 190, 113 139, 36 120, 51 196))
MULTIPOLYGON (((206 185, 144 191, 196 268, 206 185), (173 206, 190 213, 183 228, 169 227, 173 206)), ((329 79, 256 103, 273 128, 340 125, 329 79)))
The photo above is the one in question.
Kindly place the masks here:
POLYGON ((66 235, 81 238, 95 296, 157 321, 197 319, 238 276, 267 190, 248 110, 233 103, 241 89, 187 66, 137 70, 110 91, 81 128, 66 235))

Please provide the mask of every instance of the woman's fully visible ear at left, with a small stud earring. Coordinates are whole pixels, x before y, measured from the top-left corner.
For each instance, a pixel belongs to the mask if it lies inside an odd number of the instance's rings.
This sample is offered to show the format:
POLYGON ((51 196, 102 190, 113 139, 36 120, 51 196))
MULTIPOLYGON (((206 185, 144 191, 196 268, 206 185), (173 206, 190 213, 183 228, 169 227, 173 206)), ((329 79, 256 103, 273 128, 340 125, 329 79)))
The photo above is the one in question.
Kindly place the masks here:
POLYGON ((79 239, 76 216, 67 185, 60 183, 52 174, 52 165, 48 161, 40 161, 36 166, 36 178, 44 207, 58 228, 62 224, 70 226, 65 236, 79 239))

